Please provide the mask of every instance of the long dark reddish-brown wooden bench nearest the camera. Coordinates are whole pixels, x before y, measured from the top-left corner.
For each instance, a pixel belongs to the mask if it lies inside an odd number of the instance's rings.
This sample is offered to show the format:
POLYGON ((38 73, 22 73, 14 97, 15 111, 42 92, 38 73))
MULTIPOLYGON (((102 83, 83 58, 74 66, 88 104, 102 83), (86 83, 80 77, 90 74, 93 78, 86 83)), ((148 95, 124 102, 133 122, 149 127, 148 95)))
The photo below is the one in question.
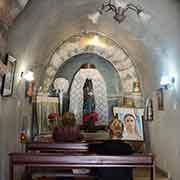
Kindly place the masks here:
MULTIPOLYGON (((15 166, 58 167, 61 168, 96 168, 96 167, 146 167, 150 168, 150 180, 155 180, 155 162, 151 154, 131 156, 101 155, 62 155, 58 153, 10 153, 10 180, 15 180, 15 166)), ((76 176, 76 175, 74 175, 76 176)))

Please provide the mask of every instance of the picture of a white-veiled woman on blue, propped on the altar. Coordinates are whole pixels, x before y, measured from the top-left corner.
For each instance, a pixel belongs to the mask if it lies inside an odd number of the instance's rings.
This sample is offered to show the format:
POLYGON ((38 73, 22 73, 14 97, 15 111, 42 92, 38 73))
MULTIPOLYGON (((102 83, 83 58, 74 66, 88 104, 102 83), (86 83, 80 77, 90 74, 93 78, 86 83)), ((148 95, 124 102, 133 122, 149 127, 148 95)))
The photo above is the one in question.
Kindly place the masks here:
POLYGON ((114 107, 113 113, 124 125, 122 140, 144 141, 143 108, 114 107))

